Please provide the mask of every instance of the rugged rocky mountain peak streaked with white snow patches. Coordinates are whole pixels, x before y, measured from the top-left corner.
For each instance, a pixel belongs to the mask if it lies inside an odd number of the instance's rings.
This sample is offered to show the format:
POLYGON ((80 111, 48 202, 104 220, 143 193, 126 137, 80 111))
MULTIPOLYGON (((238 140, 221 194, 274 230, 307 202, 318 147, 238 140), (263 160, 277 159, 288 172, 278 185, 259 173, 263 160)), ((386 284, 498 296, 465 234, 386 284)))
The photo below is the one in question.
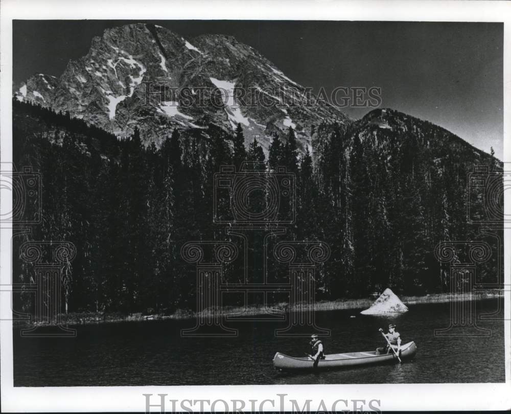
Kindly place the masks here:
POLYGON ((233 131, 240 123, 246 143, 255 137, 265 150, 272 133, 291 126, 305 150, 312 125, 349 122, 332 106, 292 105, 293 98, 305 100, 305 88, 233 37, 188 41, 150 24, 106 30, 60 78, 35 75, 15 97, 68 111, 121 137, 138 126, 144 142, 156 145, 174 128, 213 123, 233 131), (183 88, 188 94, 174 93, 183 88))

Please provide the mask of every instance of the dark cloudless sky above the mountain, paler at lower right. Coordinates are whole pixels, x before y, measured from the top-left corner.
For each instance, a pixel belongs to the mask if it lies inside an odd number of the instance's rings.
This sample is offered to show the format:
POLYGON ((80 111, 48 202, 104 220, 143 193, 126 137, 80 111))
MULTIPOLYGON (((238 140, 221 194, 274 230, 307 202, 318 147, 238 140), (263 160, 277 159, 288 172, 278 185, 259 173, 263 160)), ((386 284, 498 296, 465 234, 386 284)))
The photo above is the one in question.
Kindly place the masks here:
MULTIPOLYGON (((93 36, 135 20, 15 20, 13 81, 59 76, 93 36)), ((502 159, 500 23, 152 20, 186 38, 223 33, 257 49, 289 78, 327 91, 380 86, 383 107, 427 119, 502 159)), ((344 108, 353 118, 369 109, 344 108)))

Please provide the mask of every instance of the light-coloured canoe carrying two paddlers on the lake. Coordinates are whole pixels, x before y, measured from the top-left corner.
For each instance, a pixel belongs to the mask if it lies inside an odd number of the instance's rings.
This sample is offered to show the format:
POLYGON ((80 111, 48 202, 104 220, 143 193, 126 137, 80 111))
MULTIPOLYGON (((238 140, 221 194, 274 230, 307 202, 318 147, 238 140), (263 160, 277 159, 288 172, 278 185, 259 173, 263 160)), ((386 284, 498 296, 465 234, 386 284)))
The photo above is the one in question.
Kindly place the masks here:
MULTIPOLYGON (((401 346, 401 360, 411 359, 417 352, 415 342, 401 346)), ((388 363, 397 361, 396 354, 377 355, 376 351, 348 352, 345 354, 329 354, 318 362, 318 369, 337 369, 343 367, 388 363)), ((277 370, 312 370, 314 361, 309 357, 290 357, 277 352, 273 357, 273 366, 277 370)))

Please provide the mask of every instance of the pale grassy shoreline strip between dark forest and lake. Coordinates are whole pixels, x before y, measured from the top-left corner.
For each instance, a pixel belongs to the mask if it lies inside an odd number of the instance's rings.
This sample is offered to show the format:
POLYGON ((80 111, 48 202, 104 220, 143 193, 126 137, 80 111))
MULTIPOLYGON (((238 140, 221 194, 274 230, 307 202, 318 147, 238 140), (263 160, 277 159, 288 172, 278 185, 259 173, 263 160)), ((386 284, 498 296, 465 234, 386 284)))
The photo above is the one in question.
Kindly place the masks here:
MULTIPOLYGON (((484 292, 473 292, 464 294, 451 294, 451 293, 433 293, 425 296, 402 296, 400 299, 405 305, 417 304, 431 304, 431 303, 447 303, 447 302, 460 302, 466 300, 481 301, 484 299, 492 299, 504 296, 503 289, 488 290, 484 292)), ((320 301, 315 304, 313 310, 315 311, 329 311, 329 310, 345 310, 345 309, 367 309, 374 303, 375 300, 369 298, 362 299, 338 299, 336 301, 320 301)), ((205 310, 197 313, 191 310, 178 309, 171 315, 152 314, 144 315, 142 313, 132 313, 124 315, 119 312, 112 313, 95 313, 95 312, 74 312, 68 314, 60 314, 60 325, 64 326, 77 326, 77 325, 95 325, 117 322, 134 322, 134 321, 148 321, 148 320, 165 320, 165 319, 192 319, 198 316, 208 316, 220 313, 221 316, 256 316, 256 315, 269 315, 269 314, 283 314, 286 312, 296 311, 298 306, 289 307, 287 302, 274 304, 272 306, 255 306, 248 307, 226 306, 216 312, 212 310, 205 310)), ((36 324, 28 323, 27 321, 13 321, 13 326, 52 326, 56 324, 36 324)))

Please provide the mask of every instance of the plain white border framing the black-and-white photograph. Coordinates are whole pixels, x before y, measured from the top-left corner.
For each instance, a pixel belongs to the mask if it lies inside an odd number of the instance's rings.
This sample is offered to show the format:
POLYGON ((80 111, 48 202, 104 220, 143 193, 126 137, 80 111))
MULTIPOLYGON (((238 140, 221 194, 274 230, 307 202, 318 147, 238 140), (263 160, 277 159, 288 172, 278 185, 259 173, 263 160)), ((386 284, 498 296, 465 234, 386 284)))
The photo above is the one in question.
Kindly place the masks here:
MULTIPOLYGON (((0 158, 12 162, 12 20, 13 19, 229 19, 229 20, 380 20, 380 21, 478 21, 504 24, 504 162, 511 161, 511 4, 500 1, 335 1, 335 0, 3 0, 0 4, 0 158)), ((1 212, 11 209, 10 193, 1 190, 1 212), (4 194, 6 197, 4 197, 4 194)), ((511 194, 504 194, 505 214, 511 214, 511 194)), ((504 281, 511 284, 509 251, 511 229, 504 230, 504 281)), ((11 231, 0 233, 0 284, 11 283, 11 231)), ((505 291, 505 383, 463 384, 350 384, 350 385, 237 385, 237 386, 112 386, 112 387, 13 387, 12 322, 10 297, 0 292, 0 362, 3 411, 144 411, 143 394, 168 394, 169 399, 278 400, 277 394, 321 400, 331 407, 335 400, 378 400, 386 410, 503 410, 511 408, 510 306, 505 291)), ((170 373, 169 373, 170 375, 170 373)), ((152 404, 157 401, 151 401, 152 404)), ((171 408, 170 403, 166 408, 171 408)), ((223 410, 219 404, 217 410, 223 410)), ((290 410, 267 404, 265 410, 290 410)), ((153 407, 153 411, 159 411, 153 407)))

